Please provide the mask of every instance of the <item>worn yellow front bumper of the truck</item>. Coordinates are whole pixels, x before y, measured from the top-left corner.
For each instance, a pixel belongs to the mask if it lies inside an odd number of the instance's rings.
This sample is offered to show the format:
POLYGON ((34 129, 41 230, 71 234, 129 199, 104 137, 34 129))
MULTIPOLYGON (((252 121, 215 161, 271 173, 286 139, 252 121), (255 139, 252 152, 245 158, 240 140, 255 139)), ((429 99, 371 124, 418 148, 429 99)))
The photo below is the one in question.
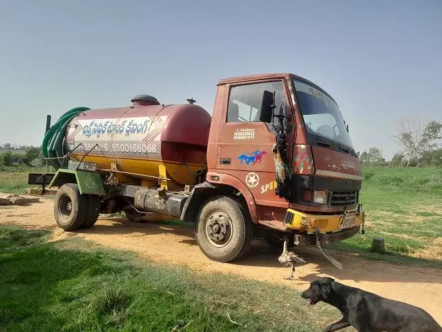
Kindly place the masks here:
POLYGON ((333 232, 354 228, 363 223, 365 212, 362 207, 358 210, 347 211, 345 214, 307 214, 287 209, 284 225, 292 230, 315 232, 319 228, 321 233, 333 232))

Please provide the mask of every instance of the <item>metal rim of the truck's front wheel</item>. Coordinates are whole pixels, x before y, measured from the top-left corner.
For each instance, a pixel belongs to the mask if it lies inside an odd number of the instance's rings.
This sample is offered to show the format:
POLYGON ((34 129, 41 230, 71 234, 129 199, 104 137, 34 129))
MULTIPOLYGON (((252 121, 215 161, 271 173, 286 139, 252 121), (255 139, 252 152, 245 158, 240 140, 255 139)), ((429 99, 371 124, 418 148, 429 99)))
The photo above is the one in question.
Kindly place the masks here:
POLYGON ((212 246, 224 247, 232 238, 232 221, 225 212, 215 211, 206 218, 206 237, 212 246))

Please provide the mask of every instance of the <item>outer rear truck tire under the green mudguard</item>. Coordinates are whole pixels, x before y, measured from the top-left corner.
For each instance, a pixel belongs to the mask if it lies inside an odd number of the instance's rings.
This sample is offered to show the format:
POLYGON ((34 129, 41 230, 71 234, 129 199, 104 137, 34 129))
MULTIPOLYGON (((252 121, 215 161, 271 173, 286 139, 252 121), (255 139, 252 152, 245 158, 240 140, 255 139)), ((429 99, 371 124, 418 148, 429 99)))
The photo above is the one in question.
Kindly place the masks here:
POLYGON ((86 195, 80 195, 78 185, 66 183, 55 195, 54 215, 59 227, 76 230, 85 221, 88 204, 86 195))

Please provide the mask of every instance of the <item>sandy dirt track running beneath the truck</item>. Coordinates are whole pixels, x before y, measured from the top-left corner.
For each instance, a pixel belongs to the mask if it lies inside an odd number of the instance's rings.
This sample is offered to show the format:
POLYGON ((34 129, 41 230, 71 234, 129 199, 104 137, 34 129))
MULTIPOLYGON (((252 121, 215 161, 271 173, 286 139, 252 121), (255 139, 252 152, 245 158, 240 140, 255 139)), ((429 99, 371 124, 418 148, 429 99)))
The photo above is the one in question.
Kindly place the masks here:
MULTIPOLYGON (((0 196, 3 196, 0 194, 0 196)), ((180 264, 198 273, 234 273, 275 284, 304 290, 318 276, 329 276, 338 282, 356 286, 365 291, 419 306, 442 324, 442 271, 436 268, 396 266, 366 261, 348 253, 333 252, 343 263, 338 270, 317 250, 299 250, 308 264, 296 268, 294 281, 282 279, 289 268, 278 262, 278 252, 271 252, 267 243, 256 239, 249 252, 232 264, 207 259, 193 237, 192 228, 160 225, 159 223, 132 223, 124 218, 100 216, 88 230, 64 232, 57 227, 50 199, 28 206, 9 205, 0 209, 0 223, 28 228, 46 228, 53 231, 54 240, 81 237, 102 246, 135 250, 140 257, 169 264, 180 264)))

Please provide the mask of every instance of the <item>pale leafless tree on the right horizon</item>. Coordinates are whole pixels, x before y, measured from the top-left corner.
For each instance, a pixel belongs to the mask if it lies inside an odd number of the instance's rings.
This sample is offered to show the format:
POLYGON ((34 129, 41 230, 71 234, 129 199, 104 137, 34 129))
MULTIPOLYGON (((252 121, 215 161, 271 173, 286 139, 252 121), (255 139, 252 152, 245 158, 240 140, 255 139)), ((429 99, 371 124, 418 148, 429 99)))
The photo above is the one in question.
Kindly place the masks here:
POLYGON ((413 159, 421 158, 427 151, 436 149, 442 138, 442 122, 421 118, 405 118, 399 122, 393 138, 404 147, 407 167, 413 159))

